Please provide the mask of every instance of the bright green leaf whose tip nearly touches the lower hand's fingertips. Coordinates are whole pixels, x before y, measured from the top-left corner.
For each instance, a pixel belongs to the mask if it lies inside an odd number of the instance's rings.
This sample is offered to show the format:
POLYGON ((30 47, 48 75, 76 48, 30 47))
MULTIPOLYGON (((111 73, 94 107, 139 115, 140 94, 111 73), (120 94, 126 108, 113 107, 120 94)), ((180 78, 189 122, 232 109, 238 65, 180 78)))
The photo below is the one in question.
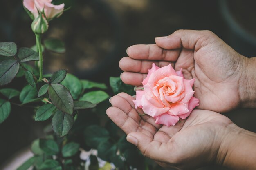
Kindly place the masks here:
POLYGON ((89 101, 93 104, 98 104, 108 99, 109 95, 104 91, 90 91, 85 93, 79 100, 89 101))

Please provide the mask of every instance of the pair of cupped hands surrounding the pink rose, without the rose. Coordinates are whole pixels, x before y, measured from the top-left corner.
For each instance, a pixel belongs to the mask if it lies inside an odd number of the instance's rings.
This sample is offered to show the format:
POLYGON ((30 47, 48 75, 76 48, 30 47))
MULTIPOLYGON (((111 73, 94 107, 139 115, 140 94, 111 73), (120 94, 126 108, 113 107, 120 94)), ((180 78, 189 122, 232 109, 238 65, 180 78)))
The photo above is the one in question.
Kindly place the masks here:
POLYGON ((200 105, 187 119, 167 127, 155 124, 153 117, 140 116, 143 111, 135 109, 132 102, 135 98, 119 93, 110 99, 112 107, 106 110, 110 119, 127 134, 129 142, 163 167, 193 169, 216 164, 251 169, 241 159, 234 162, 234 155, 243 160, 248 154, 246 148, 243 152, 241 142, 246 138, 243 134, 255 134, 220 114, 255 104, 250 98, 253 77, 248 71, 249 58, 234 51, 211 31, 178 30, 167 37, 155 38, 155 43, 127 49, 129 57, 119 62, 124 71, 122 81, 141 86, 153 63, 159 67, 171 64, 176 71, 182 68, 185 79, 195 78, 194 96, 200 105))

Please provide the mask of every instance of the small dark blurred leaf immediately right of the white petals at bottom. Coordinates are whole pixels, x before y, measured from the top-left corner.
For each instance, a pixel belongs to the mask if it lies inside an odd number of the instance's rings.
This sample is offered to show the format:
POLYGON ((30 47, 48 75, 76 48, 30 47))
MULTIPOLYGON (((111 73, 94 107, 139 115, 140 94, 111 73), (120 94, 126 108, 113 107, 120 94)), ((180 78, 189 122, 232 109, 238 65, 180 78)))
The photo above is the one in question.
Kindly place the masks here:
POLYGON ((115 157, 117 154, 117 146, 111 144, 109 141, 101 142, 97 148, 98 150, 98 156, 105 160, 110 162, 110 158, 115 157))

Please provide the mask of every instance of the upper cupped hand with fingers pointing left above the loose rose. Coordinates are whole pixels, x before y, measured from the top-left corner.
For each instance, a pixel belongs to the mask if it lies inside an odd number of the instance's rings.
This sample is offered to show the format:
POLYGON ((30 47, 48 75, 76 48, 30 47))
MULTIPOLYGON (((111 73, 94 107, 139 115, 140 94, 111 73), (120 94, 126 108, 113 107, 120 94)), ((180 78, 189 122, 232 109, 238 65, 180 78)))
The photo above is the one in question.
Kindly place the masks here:
POLYGON ((141 86, 153 63, 159 67, 171 63, 176 71, 182 68, 186 79, 195 78, 195 97, 200 99, 198 108, 226 112, 239 105, 248 106, 252 96, 254 104, 249 107, 255 106, 256 82, 250 86, 254 78, 247 76, 249 59, 211 31, 178 30, 166 38, 156 38, 155 42, 127 49, 129 57, 119 62, 124 83, 141 86), (248 86, 254 93, 248 92, 248 86))

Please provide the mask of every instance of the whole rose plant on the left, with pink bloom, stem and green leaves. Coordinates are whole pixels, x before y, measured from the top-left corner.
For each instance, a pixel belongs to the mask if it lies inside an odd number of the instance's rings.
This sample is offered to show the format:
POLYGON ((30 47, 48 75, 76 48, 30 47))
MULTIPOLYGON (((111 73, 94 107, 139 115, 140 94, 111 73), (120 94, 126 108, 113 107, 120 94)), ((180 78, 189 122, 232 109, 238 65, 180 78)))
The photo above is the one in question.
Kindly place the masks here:
MULTIPOLYGON (((17 49, 14 42, 0 42, 0 124, 13 106, 33 108, 31 118, 50 124, 45 126, 45 134, 32 142, 34 156, 17 170, 153 169, 152 162, 128 143, 124 133, 105 115, 110 106, 106 84, 78 79, 65 69, 43 74, 43 51, 65 52, 60 40, 43 38, 49 21, 65 11, 64 4, 24 0, 23 5, 33 20, 36 46, 17 49), (22 85, 22 77, 27 82, 24 86, 9 87, 13 79, 22 85)), ((135 95, 133 87, 119 77, 110 77, 110 86, 114 94, 135 95)))

